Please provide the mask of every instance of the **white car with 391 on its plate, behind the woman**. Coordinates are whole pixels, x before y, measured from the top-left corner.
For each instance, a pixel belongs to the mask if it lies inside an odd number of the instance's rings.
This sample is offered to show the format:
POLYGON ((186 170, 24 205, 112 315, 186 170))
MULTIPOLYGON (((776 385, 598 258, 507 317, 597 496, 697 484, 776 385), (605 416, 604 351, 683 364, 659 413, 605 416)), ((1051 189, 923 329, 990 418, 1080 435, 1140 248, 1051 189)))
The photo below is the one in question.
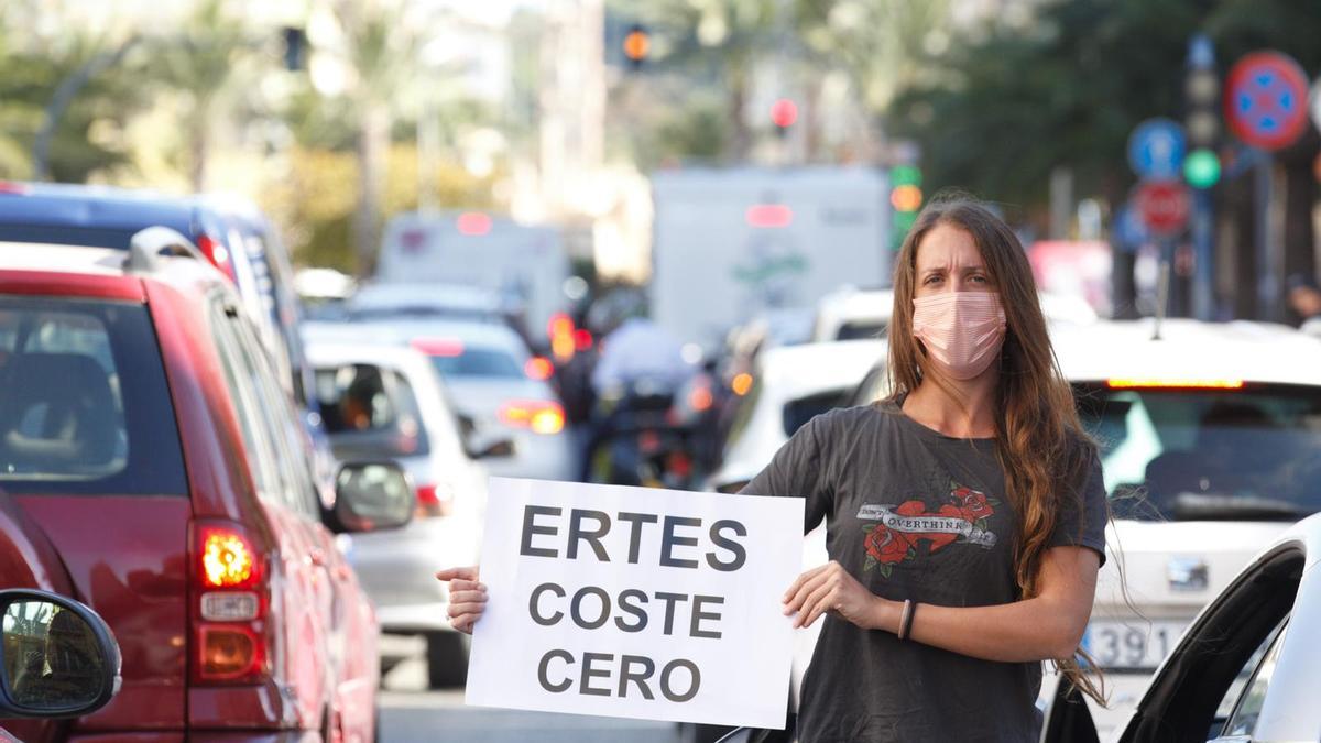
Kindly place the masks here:
MULTIPOLYGON (((1321 344, 1283 325, 1052 325, 1114 524, 1085 646, 1102 731, 1133 709, 1193 616, 1262 545, 1321 509, 1321 344), (1125 595, 1127 594, 1127 595, 1125 595)), ((886 395, 873 369, 853 405, 886 395)))

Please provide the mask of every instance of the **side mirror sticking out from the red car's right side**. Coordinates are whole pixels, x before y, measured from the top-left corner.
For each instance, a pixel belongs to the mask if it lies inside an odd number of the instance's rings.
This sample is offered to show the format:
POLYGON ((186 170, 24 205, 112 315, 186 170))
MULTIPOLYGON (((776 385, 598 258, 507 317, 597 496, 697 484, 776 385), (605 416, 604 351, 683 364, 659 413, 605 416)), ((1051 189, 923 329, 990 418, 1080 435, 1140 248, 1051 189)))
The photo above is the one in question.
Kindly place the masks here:
POLYGON ((358 461, 339 468, 334 479, 337 531, 398 529, 412 518, 412 481, 394 461, 358 461))

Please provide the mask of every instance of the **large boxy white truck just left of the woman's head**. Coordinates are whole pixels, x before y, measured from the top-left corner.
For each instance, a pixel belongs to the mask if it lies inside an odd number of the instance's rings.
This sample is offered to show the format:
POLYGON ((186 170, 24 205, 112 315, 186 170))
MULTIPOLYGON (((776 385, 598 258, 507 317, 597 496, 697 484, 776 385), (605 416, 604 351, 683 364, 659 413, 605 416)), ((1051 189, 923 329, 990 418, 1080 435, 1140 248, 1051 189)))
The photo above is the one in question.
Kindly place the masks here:
POLYGON ((877 168, 684 168, 653 175, 651 315, 708 348, 761 311, 890 284, 877 168))

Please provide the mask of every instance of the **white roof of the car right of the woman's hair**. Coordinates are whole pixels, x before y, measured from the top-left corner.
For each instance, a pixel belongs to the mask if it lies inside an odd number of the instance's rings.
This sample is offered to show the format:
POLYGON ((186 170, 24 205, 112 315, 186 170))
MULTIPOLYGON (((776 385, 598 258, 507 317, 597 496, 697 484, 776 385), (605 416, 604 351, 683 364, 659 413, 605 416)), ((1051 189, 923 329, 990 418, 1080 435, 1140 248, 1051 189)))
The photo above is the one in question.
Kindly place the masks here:
POLYGON ((1103 320, 1054 325, 1052 341, 1070 382, 1223 381, 1321 386, 1321 341, 1287 325, 1103 320))

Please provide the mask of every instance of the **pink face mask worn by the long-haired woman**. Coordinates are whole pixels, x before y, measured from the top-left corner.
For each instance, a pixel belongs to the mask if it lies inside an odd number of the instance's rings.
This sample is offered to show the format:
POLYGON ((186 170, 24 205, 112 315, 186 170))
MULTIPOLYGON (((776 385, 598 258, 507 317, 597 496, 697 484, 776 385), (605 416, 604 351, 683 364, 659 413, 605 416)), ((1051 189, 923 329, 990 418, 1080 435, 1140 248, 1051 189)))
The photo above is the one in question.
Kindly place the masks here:
POLYGON ((972 379, 1000 356, 1004 308, 996 292, 946 292, 913 300, 913 334, 954 379, 972 379))

